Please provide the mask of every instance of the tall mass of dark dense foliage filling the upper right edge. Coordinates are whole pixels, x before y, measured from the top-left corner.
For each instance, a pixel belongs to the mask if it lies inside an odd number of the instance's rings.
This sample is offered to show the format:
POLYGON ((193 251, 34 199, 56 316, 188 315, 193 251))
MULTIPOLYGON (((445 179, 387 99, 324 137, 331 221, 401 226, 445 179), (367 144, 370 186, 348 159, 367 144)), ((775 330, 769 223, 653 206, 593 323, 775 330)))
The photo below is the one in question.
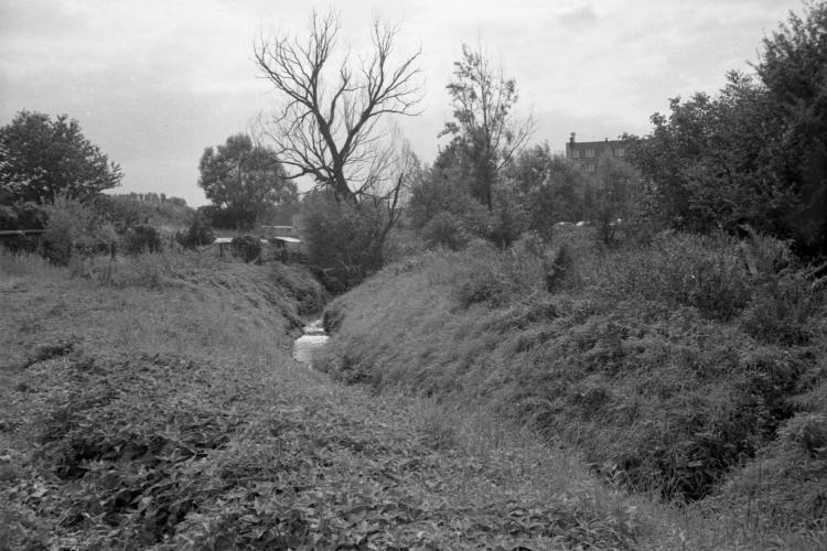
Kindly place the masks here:
POLYGON ((827 250, 827 7, 764 39, 759 82, 731 72, 720 93, 670 100, 630 153, 649 182, 649 216, 676 229, 750 226, 827 250))

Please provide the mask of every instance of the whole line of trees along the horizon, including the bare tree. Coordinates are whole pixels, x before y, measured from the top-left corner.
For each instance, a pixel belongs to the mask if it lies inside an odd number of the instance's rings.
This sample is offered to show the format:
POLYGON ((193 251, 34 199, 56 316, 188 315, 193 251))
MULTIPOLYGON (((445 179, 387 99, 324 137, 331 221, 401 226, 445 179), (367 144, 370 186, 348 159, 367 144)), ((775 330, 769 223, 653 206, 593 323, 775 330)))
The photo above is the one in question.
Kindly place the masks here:
MULTIPOLYGON (((394 127, 418 115, 420 52, 396 51, 399 29, 375 20, 366 52, 340 48, 333 13, 307 32, 261 36, 260 75, 279 96, 248 133, 205 149, 198 184, 212 202, 201 223, 248 229, 299 213, 310 261, 347 287, 386 260, 404 229, 427 246, 488 239, 588 220, 608 245, 623 231, 738 234, 790 239, 827 253, 827 6, 807 4, 765 36, 754 75, 732 72, 716 95, 670 100, 647 136, 624 134, 627 155, 583 172, 517 117, 516 82, 480 43, 463 45, 447 84, 447 141, 423 164, 394 127), (311 179, 300 194, 296 182, 311 179), (276 209, 276 210, 273 210, 276 209)), ((122 174, 77 121, 22 111, 0 129, 0 223, 21 225, 58 195, 85 201, 122 174), (34 214, 33 214, 34 213, 34 214)))

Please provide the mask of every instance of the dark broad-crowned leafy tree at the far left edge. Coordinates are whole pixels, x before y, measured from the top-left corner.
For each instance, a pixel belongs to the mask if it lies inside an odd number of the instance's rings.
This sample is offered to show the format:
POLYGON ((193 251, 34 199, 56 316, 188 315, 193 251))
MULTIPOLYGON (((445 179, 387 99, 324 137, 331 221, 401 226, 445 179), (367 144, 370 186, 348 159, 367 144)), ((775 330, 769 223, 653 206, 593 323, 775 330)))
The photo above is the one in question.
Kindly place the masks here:
POLYGON ((0 199, 6 204, 53 203, 58 195, 84 199, 116 187, 120 168, 66 115, 55 120, 20 111, 0 128, 0 199))

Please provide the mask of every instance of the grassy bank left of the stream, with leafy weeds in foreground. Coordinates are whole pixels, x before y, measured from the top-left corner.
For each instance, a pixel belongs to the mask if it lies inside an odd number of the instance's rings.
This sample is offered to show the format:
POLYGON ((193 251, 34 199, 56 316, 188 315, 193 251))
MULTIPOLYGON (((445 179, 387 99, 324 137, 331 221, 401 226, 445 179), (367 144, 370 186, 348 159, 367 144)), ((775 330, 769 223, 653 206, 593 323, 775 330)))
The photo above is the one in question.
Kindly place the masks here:
POLYGON ((291 320, 320 298, 300 270, 74 271, 0 256, 0 548, 629 549, 663 529, 530 436, 296 364, 291 320))

